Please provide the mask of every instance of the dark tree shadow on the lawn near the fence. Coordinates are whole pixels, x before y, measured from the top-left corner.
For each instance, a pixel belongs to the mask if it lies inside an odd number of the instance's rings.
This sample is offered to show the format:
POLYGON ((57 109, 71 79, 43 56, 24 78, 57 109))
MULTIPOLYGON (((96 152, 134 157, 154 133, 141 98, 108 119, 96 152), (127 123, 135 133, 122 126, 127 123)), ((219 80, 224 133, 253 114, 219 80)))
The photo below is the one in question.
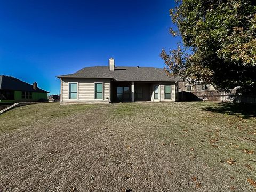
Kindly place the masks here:
POLYGON ((217 106, 207 106, 203 110, 236 115, 244 119, 256 117, 256 105, 252 103, 219 103, 217 106))

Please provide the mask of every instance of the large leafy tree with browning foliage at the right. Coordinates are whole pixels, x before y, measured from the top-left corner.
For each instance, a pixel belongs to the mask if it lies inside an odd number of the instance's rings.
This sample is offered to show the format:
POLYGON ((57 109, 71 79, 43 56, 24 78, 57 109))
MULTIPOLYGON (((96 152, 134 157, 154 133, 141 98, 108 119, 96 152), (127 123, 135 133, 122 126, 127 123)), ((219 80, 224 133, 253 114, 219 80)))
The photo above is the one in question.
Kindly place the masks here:
POLYGON ((256 1, 176 0, 170 16, 182 44, 161 57, 170 76, 256 93, 256 1))

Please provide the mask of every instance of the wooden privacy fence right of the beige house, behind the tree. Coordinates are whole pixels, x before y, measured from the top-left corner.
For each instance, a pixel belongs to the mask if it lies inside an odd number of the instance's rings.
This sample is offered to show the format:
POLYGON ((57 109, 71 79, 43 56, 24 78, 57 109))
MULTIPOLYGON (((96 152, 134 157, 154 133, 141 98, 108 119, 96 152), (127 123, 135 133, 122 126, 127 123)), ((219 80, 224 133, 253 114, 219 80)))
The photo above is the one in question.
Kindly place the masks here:
POLYGON ((224 91, 200 91, 179 92, 179 101, 210 101, 210 102, 243 102, 256 103, 256 97, 238 95, 235 91, 227 93, 224 91))

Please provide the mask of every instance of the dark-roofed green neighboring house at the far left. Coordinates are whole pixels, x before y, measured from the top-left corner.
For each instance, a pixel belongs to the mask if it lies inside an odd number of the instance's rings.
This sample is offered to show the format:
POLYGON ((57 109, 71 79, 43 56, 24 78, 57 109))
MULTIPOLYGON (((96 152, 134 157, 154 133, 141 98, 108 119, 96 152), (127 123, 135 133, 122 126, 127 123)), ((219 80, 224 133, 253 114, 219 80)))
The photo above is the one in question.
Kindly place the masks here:
POLYGON ((0 75, 0 103, 47 101, 47 91, 17 78, 0 75))

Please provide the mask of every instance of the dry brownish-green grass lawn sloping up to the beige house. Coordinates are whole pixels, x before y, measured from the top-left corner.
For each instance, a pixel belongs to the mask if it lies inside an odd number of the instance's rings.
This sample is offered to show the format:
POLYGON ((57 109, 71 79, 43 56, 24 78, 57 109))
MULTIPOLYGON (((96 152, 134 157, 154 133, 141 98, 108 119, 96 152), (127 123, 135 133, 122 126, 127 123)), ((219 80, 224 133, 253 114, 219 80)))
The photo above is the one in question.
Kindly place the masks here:
POLYGON ((255 191, 255 107, 18 107, 0 115, 0 191, 255 191))

